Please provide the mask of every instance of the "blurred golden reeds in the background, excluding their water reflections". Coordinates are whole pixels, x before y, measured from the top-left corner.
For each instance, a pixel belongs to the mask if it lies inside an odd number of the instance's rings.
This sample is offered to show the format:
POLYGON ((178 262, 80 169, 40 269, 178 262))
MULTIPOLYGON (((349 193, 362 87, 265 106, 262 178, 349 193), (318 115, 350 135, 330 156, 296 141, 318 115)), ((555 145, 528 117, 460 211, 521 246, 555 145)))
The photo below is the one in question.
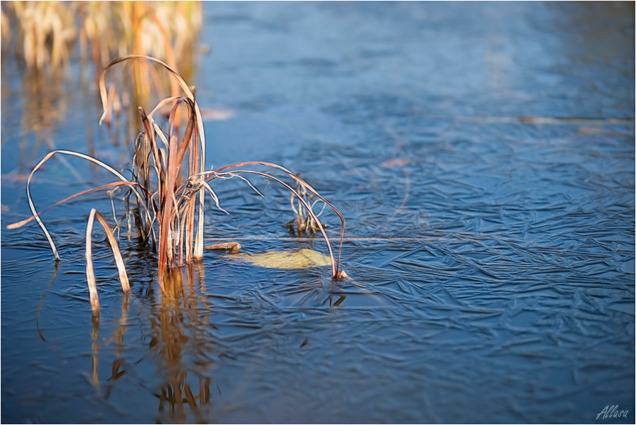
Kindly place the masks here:
POLYGON ((126 54, 165 61, 189 77, 201 28, 198 1, 5 1, 3 44, 28 68, 68 64, 79 42, 82 59, 92 58, 96 73, 126 54), (17 37, 14 40, 14 34, 17 37))

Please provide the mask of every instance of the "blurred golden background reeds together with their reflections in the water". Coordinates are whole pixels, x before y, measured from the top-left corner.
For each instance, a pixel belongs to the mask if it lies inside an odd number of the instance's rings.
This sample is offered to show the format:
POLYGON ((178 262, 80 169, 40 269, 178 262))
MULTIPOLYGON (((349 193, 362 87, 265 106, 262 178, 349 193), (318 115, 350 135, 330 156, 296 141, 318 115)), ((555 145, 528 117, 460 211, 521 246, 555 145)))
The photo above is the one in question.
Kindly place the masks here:
MULTIPOLYGON (((92 63, 97 78, 117 57, 153 56, 194 80, 201 13, 199 1, 3 1, 2 50, 25 68, 21 79, 32 112, 25 114, 25 130, 35 131, 37 140, 48 140, 44 135, 66 114, 65 107, 50 106, 64 102, 63 76, 73 58, 80 59, 82 68, 92 63)), ((111 94, 122 96, 114 100, 114 112, 123 109, 127 119, 125 125, 117 121, 109 128, 114 144, 140 131, 137 105, 148 108, 166 97, 155 99, 155 92, 178 95, 176 85, 152 66, 137 63, 131 68, 126 78, 109 82, 109 90, 119 89, 111 94), (127 128, 123 134, 122 127, 127 128)))

